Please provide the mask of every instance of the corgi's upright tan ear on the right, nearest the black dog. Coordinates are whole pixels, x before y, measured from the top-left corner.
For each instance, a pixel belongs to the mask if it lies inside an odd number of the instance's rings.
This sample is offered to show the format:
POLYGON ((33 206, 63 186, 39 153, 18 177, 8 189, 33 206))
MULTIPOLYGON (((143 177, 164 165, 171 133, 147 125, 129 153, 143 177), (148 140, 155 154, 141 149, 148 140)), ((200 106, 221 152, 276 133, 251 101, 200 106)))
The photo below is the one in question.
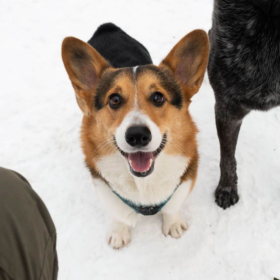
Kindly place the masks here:
POLYGON ((159 66, 171 68, 188 98, 196 94, 202 84, 209 56, 207 33, 197 29, 183 37, 159 66))

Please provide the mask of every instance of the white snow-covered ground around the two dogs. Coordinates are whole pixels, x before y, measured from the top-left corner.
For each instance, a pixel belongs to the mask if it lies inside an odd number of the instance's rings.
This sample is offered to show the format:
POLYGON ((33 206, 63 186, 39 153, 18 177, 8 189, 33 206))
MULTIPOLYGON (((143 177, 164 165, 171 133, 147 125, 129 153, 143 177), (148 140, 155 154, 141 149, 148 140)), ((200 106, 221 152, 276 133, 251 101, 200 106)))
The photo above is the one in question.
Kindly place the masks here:
POLYGON ((237 144, 240 201, 214 203, 219 144, 207 77, 193 98, 200 169, 182 208, 181 239, 161 216, 143 217, 128 248, 106 244, 102 210, 79 144, 82 114, 60 57, 62 39, 87 41, 114 22, 158 63, 192 29, 211 26, 212 1, 6 1, 0 8, 0 165, 17 170, 44 200, 57 228, 59 279, 280 278, 280 108, 246 117, 237 144), (278 144, 277 144, 278 143, 278 144))

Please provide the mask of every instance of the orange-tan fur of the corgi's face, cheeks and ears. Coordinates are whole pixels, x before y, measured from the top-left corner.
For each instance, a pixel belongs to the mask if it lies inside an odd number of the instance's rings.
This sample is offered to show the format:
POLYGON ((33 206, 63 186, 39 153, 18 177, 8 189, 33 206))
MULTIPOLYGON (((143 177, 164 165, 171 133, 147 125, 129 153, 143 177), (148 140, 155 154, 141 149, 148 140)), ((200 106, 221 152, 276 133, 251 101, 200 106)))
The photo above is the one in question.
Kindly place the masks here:
POLYGON ((113 82, 106 92, 104 103, 109 96, 118 93, 125 99, 125 104, 119 110, 112 110, 108 105, 96 111, 93 108, 96 87, 104 73, 113 73, 113 69, 102 56, 90 45, 73 37, 64 39, 62 43, 62 59, 74 87, 77 102, 84 113, 81 142, 85 154, 85 162, 90 167, 93 176, 98 176, 96 162, 102 157, 119 153, 113 142, 116 128, 123 118, 137 106, 158 126, 162 134, 167 133, 165 153, 184 155, 189 159, 188 170, 181 177, 182 181, 192 179, 195 183, 198 168, 198 152, 196 134, 198 132, 188 107, 191 97, 199 90, 202 83, 209 55, 207 35, 202 30, 196 30, 186 35, 171 50, 158 66, 169 71, 179 83, 183 92, 181 109, 169 103, 167 89, 160 85, 157 76, 147 69, 137 78, 132 71, 124 71, 113 82), (82 52, 82 59, 75 60, 74 55, 82 52), (84 58, 88 61, 85 61, 84 58), (191 61, 191 63, 190 63, 191 61), (161 92, 167 102, 158 108, 150 101, 153 92, 161 92))

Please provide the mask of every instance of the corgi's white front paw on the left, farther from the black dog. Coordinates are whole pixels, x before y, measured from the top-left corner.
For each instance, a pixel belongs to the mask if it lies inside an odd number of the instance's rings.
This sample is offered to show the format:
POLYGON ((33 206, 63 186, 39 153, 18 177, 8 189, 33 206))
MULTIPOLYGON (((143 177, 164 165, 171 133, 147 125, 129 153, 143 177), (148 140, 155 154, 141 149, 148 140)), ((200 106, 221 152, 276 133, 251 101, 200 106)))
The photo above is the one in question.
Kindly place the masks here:
POLYGON ((122 222, 113 222, 107 235, 108 244, 116 250, 127 247, 130 242, 128 226, 122 222))

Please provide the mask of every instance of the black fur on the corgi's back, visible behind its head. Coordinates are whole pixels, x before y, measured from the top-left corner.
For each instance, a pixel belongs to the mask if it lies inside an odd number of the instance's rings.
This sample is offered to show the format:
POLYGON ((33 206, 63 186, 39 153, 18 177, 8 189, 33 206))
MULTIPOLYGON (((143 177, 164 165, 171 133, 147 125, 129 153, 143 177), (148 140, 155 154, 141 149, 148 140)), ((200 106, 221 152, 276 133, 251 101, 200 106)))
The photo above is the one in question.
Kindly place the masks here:
POLYGON ((113 23, 100 25, 88 43, 116 68, 153 63, 148 50, 113 23))

